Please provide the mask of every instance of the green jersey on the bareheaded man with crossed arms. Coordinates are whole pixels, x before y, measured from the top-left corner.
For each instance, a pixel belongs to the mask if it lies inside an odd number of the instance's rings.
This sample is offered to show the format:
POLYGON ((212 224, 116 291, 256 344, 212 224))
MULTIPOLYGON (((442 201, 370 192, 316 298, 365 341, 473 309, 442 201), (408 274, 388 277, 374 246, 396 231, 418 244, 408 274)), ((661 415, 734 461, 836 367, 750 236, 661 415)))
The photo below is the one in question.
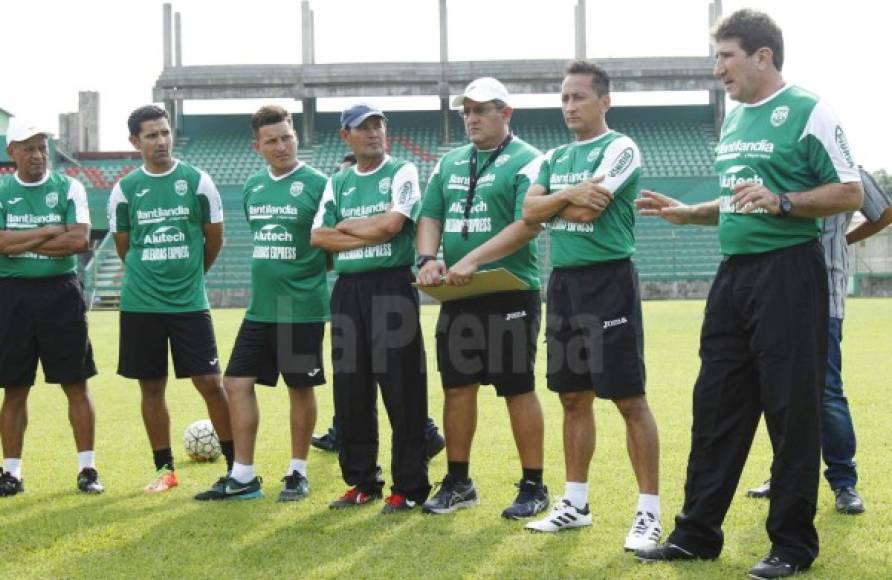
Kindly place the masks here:
POLYGON ((641 176, 641 154, 635 142, 608 131, 593 139, 552 149, 545 156, 536 183, 555 193, 603 176, 601 185, 613 201, 593 222, 572 222, 555 216, 550 224, 551 263, 555 268, 621 260, 635 253, 635 196, 641 176))

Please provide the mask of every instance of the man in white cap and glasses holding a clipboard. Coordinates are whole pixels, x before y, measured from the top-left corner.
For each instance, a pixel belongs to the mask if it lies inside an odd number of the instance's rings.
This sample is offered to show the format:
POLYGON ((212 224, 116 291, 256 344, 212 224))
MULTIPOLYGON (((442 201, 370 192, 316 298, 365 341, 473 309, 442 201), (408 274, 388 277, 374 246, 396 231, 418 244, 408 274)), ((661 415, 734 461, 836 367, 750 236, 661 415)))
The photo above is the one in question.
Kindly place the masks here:
POLYGON ((505 268, 527 290, 444 302, 437 322, 437 363, 445 390, 446 477, 424 505, 450 513, 477 503, 469 477, 477 427, 477 392, 495 386, 505 398, 523 469, 519 493, 502 515, 533 516, 548 507, 542 483, 542 408, 533 365, 541 299, 534 238, 541 226, 521 219, 523 198, 541 152, 510 131, 510 97, 491 77, 471 82, 453 100, 471 143, 446 153, 424 194, 418 226, 418 282, 463 285, 479 270, 505 268), (436 259, 442 240, 444 261, 436 259))

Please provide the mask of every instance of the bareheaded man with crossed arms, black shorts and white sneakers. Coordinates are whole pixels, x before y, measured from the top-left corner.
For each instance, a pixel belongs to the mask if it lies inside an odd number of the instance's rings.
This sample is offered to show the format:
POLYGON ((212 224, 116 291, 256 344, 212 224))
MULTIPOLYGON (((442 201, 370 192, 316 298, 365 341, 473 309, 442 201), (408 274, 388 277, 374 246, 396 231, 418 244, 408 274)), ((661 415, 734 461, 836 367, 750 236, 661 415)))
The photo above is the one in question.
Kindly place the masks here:
POLYGON ((567 482, 562 501, 527 524, 557 532, 592 523, 588 470, 595 450, 592 404, 613 401, 626 423, 638 507, 626 550, 660 539, 659 436, 644 395, 644 331, 635 252, 635 197, 641 154, 607 127, 610 77, 576 61, 561 87, 561 110, 576 140, 545 156, 524 202, 524 220, 550 222, 548 388, 564 409, 567 482))

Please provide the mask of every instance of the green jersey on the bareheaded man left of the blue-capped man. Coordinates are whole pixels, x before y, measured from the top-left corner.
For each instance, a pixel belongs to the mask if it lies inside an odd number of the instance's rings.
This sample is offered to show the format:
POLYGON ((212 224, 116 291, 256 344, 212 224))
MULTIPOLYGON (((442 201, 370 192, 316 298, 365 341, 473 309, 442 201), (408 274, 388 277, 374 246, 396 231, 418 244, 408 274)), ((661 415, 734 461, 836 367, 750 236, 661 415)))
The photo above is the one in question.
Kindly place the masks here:
POLYGON ((329 319, 325 252, 310 246, 310 227, 326 181, 325 175, 300 163, 279 177, 264 169, 245 183, 245 216, 254 239, 246 319, 329 319))

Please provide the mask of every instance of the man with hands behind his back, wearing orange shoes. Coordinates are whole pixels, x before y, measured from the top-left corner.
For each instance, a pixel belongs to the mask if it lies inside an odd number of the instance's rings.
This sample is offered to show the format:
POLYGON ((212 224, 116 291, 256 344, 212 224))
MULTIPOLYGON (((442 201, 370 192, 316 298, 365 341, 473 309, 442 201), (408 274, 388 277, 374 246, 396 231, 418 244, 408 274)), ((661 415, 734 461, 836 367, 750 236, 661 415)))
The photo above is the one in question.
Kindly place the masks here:
POLYGON ((210 176, 174 159, 167 113, 140 107, 127 120, 143 166, 112 189, 109 230, 124 262, 118 374, 139 381, 156 477, 150 493, 177 485, 167 412, 167 344, 177 378, 204 397, 232 469, 232 435, 204 275, 223 244, 223 208, 210 176))

